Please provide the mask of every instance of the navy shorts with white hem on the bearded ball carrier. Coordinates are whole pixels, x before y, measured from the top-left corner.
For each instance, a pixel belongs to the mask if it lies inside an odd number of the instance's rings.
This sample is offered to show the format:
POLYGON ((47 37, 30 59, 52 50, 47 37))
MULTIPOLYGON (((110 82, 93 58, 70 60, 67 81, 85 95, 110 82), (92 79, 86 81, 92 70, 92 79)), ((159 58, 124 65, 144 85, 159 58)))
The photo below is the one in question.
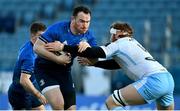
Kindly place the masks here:
POLYGON ((48 86, 59 85, 61 91, 74 91, 74 83, 69 70, 48 70, 35 68, 36 81, 42 91, 48 86))

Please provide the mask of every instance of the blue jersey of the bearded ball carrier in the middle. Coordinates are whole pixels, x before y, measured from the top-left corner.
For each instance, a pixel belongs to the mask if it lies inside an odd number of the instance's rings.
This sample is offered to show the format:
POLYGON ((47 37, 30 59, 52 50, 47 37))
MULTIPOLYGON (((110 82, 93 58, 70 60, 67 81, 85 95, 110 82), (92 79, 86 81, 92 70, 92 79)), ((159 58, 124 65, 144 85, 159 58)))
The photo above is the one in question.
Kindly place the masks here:
MULTIPOLYGON (((93 34, 88 30, 84 34, 74 35, 70 30, 70 21, 63 21, 53 24, 52 26, 48 27, 48 29, 41 35, 39 38, 45 43, 60 41, 61 43, 65 43, 67 45, 77 45, 80 41, 86 40, 91 46, 96 46, 96 40, 93 34)), ((76 57, 75 55, 72 56, 72 61, 76 57)), ((72 65, 72 62, 66 66, 58 65, 52 61, 44 59, 42 57, 37 57, 36 65, 45 68, 53 69, 69 69, 72 65)))

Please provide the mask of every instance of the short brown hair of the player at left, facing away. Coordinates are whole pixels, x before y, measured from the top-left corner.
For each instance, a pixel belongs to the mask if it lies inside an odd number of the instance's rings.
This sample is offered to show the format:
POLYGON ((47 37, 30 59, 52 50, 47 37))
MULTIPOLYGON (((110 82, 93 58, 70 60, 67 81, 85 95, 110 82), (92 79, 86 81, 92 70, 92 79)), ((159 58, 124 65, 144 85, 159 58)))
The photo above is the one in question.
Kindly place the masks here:
POLYGON ((41 23, 41 22, 34 22, 30 26, 30 33, 37 33, 38 31, 45 31, 46 30, 46 25, 41 23))

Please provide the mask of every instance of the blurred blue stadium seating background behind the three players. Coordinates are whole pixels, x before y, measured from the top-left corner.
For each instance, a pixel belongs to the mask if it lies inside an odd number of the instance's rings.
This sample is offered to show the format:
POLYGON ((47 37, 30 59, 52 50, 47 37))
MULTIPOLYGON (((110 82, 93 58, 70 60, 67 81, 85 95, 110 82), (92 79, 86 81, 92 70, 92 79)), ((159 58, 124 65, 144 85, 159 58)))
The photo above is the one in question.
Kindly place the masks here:
MULTIPOLYGON (((109 41, 114 21, 128 22, 134 28, 134 37, 172 73, 176 109, 180 109, 180 0, 0 0, 0 110, 11 109, 7 90, 18 49, 29 40, 29 25, 70 20, 72 8, 79 4, 92 10, 90 30, 98 45, 109 41)), ((72 76, 77 109, 105 109, 105 98, 113 90, 133 82, 121 70, 84 67, 76 60, 72 76)), ((154 108, 154 104, 127 107, 154 108)))

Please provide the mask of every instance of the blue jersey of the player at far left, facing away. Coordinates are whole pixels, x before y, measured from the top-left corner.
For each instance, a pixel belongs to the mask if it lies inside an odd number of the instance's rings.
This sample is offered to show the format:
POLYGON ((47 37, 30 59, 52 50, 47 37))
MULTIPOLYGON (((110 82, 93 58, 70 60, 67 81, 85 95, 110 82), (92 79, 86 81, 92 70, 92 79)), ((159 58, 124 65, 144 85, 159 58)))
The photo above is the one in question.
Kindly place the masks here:
POLYGON ((13 73, 13 86, 20 91, 25 91, 20 85, 21 73, 30 74, 30 80, 35 84, 34 77, 34 60, 36 55, 33 51, 33 44, 31 41, 25 43, 19 50, 18 59, 15 64, 13 73))

